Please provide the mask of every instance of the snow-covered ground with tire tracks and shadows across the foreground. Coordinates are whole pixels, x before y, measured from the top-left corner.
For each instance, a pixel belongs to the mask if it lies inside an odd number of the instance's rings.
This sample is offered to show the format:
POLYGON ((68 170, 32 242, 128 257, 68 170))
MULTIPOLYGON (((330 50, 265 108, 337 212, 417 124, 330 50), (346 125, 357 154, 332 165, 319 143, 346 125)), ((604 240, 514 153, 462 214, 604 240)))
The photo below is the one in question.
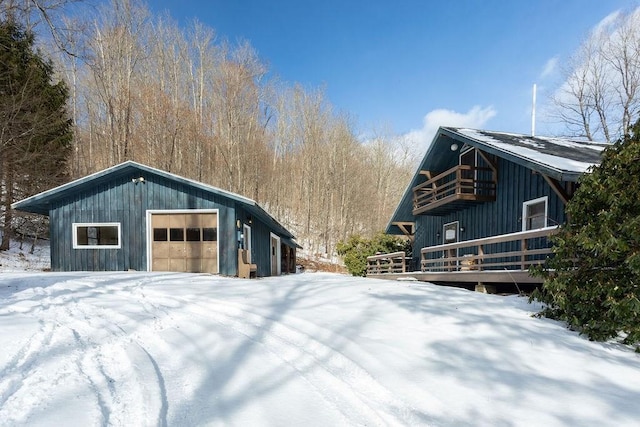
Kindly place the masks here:
POLYGON ((0 425, 633 426, 640 355, 521 297, 328 273, 0 273, 0 425))

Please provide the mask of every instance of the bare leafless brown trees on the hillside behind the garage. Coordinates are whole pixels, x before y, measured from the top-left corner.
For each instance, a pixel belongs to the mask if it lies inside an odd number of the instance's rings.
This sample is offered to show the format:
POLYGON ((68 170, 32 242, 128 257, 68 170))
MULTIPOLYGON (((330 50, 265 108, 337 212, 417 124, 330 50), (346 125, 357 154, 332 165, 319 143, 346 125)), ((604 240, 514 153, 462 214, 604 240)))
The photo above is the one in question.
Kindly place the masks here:
POLYGON ((60 57, 71 177, 135 160, 196 179, 256 200, 312 254, 384 228, 414 169, 407 146, 363 140, 322 89, 278 81, 248 43, 134 3, 70 24, 86 29, 60 57))

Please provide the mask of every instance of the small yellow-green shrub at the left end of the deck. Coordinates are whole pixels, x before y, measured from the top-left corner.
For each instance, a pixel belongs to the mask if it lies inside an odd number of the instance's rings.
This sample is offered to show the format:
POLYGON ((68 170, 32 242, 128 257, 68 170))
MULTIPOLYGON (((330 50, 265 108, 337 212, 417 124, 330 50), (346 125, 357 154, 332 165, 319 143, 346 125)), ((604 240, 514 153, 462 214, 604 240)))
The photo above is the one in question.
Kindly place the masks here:
POLYGON ((370 239, 353 235, 344 242, 338 242, 337 251, 351 275, 366 276, 368 256, 399 251, 411 256, 411 245, 407 240, 384 233, 378 233, 370 239))

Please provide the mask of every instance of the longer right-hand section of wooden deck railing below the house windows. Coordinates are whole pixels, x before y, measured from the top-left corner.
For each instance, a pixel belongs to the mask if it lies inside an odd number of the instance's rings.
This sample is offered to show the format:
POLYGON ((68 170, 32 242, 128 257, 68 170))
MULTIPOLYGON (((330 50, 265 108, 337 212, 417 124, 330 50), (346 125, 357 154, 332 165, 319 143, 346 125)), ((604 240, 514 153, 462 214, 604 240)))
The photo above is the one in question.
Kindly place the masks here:
POLYGON ((551 255, 548 237, 558 227, 466 240, 420 250, 423 272, 527 270, 551 255))

